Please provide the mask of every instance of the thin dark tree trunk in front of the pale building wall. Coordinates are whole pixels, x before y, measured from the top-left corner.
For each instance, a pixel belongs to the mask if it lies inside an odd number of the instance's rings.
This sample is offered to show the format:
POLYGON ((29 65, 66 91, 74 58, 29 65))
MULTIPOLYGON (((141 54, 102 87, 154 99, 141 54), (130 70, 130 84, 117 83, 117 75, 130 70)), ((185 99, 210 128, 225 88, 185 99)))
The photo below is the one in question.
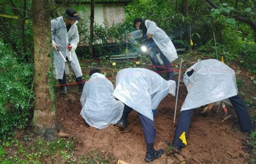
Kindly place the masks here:
POLYGON ((89 55, 90 57, 94 57, 93 54, 93 48, 92 48, 92 43, 93 43, 93 38, 94 38, 94 0, 91 0, 91 24, 90 24, 90 42, 89 42, 89 55))

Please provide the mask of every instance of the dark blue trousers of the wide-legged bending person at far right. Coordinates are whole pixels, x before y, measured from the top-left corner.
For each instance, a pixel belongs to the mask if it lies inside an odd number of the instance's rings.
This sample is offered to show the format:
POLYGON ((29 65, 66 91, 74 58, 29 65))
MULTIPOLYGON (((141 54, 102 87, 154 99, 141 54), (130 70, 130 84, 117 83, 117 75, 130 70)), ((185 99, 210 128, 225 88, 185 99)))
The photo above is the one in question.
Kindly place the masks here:
MULTIPOLYGON (((229 98, 231 101, 233 108, 236 111, 237 118, 239 120, 239 124, 242 131, 251 130, 253 128, 250 115, 247 111, 247 108, 240 98, 239 95, 232 96, 229 98)), ((179 148, 179 147, 185 147, 185 144, 182 143, 182 140, 179 139, 183 131, 185 131, 185 136, 187 138, 188 135, 188 128, 191 123, 191 118, 194 113, 195 109, 190 110, 183 110, 179 114, 179 120, 176 126, 174 140, 173 140, 173 147, 179 148)))

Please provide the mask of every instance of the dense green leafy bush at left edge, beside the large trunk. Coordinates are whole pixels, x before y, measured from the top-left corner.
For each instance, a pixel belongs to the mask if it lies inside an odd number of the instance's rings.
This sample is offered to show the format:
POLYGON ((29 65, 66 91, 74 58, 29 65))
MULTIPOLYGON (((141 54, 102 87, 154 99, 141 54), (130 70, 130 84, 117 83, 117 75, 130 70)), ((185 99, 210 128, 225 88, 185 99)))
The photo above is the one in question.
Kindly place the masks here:
POLYGON ((0 40, 0 136, 27 124, 33 98, 32 69, 32 64, 20 61, 0 40))

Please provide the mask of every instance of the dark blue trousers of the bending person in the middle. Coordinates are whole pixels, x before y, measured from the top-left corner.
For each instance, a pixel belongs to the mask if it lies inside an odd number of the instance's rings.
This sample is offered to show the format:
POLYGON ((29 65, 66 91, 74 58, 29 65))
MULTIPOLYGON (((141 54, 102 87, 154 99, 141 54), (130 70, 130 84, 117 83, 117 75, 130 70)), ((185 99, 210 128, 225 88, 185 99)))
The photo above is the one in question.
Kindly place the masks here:
MULTIPOLYGON (((127 120, 128 114, 132 111, 133 109, 131 107, 128 107, 125 105, 124 107, 124 112, 122 115, 123 120, 127 120)), ((140 114, 138 112, 139 119, 141 121, 142 129, 144 132, 144 138, 147 144, 149 143, 154 143, 154 140, 156 138, 156 128, 154 125, 154 121, 145 117, 144 115, 140 114)))

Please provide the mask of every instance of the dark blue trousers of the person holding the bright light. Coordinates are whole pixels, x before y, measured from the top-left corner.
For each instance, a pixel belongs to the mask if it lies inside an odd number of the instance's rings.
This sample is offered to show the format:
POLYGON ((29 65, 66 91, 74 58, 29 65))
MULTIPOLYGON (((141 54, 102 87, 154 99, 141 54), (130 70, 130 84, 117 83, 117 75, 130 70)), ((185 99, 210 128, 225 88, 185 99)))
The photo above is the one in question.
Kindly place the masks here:
POLYGON ((165 57, 165 55, 162 53, 162 51, 159 49, 159 47, 154 44, 150 51, 148 52, 148 57, 151 60, 152 64, 156 67, 156 72, 157 71, 162 71, 162 65, 160 64, 158 58, 157 58, 157 54, 160 53, 159 57, 163 60, 164 66, 166 68, 166 73, 169 74, 171 73, 172 69, 171 69, 171 63, 170 61, 165 57))

